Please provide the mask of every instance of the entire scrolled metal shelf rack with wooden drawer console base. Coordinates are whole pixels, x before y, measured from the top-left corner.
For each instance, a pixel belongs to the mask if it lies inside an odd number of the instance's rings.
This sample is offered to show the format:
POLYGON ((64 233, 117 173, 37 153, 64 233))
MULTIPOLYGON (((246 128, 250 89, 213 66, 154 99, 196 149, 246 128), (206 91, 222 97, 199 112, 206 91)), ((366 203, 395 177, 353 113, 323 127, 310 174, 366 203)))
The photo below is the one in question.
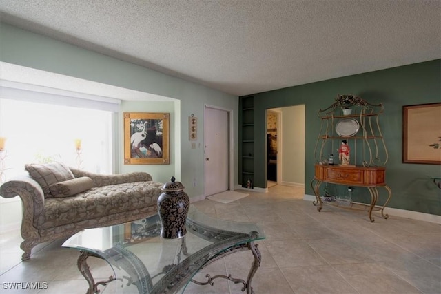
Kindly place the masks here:
MULTIPOLYGON (((327 197, 329 191, 325 187, 324 196, 320 196, 322 182, 334 185, 347 185, 349 201, 341 203, 349 208, 353 204, 369 207, 369 220, 374 221, 372 211, 381 211, 383 218, 384 207, 391 200, 392 191, 386 185, 386 165, 388 153, 384 137, 380 128, 380 115, 383 114, 382 103, 371 104, 359 96, 338 95, 335 102, 326 109, 318 111, 321 120, 317 136, 314 156, 316 158, 314 179, 311 187, 316 195, 314 205, 317 210, 327 204, 338 204, 338 198, 327 197), (340 146, 340 149, 338 149, 340 146), (344 149, 343 149, 344 147, 344 149), (330 165, 334 161, 334 154, 339 152, 337 165, 330 165), (350 198, 352 189, 349 187, 365 187, 371 194, 369 204, 353 202, 350 198), (377 205, 379 198, 378 187, 387 190, 387 200, 382 206, 377 205), (323 198, 322 198, 323 197, 323 198), (348 205, 349 204, 349 205, 348 205)), ((323 189, 322 189, 323 190, 323 189)))

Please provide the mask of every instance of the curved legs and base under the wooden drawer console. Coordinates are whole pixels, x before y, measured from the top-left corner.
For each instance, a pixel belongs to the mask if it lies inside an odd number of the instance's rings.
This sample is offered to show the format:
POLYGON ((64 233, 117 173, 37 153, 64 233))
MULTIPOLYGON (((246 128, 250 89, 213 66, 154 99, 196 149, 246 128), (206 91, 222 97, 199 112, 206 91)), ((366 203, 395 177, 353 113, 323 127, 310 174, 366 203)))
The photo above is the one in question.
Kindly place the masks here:
MULTIPOLYGON (((320 197, 320 190, 319 190, 320 185, 322 185, 322 181, 320 181, 320 180, 314 179, 311 182, 311 187, 314 190, 314 194, 316 196, 316 201, 313 201, 312 204, 314 204, 314 206, 317 206, 318 211, 322 210, 322 207, 323 207, 323 202, 322 202, 322 198, 320 197)), ((391 200, 392 191, 389 188, 389 186, 387 186, 387 185, 378 186, 378 187, 366 187, 368 189, 369 193, 371 194, 371 203, 370 204, 351 201, 351 202, 349 202, 351 204, 351 207, 349 207, 349 208, 352 208, 353 204, 369 207, 369 220, 371 222, 375 221, 375 218, 373 218, 373 216, 372 216, 372 211, 381 211, 382 218, 386 218, 386 219, 389 218, 389 215, 387 213, 384 214, 384 208, 389 203, 389 200, 391 200), (377 202, 378 196, 379 196, 378 189, 377 189, 378 187, 384 187, 384 189, 386 189, 387 193, 388 193, 387 200, 386 200, 386 202, 384 202, 384 204, 382 206, 376 205, 376 202, 377 202)), ((336 205, 334 205, 334 206, 336 206, 336 205)), ((345 208, 347 208, 347 207, 345 207, 345 208)))

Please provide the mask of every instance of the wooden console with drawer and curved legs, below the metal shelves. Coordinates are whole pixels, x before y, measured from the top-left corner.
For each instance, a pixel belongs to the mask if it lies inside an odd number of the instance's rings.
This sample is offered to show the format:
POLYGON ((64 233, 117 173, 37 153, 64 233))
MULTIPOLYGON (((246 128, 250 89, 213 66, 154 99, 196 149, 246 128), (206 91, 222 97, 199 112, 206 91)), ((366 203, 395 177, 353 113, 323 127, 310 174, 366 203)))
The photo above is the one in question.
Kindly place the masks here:
POLYGON ((392 196, 391 189, 385 182, 384 167, 358 167, 358 166, 342 166, 342 165, 315 165, 315 176, 311 182, 311 187, 314 190, 316 201, 314 205, 318 205, 317 210, 320 211, 323 207, 323 201, 320 196, 320 185, 322 182, 328 182, 336 185, 347 185, 366 187, 371 194, 371 203, 360 203, 351 201, 350 204, 358 204, 369 207, 369 220, 373 222, 375 219, 372 216, 372 211, 381 211, 383 218, 389 218, 384 214, 384 207, 392 196), (388 192, 386 202, 382 206, 376 205, 378 200, 378 187, 384 187, 388 192))

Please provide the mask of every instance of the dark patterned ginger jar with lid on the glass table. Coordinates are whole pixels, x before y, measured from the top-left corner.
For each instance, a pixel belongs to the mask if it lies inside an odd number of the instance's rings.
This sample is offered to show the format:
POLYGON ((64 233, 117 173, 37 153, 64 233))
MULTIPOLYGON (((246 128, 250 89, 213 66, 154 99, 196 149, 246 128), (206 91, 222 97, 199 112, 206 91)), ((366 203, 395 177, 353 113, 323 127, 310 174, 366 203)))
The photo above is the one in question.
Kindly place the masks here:
POLYGON ((171 180, 161 188, 163 193, 158 198, 161 237, 166 239, 181 238, 187 233, 185 220, 190 207, 189 197, 183 191, 185 187, 174 177, 171 180))

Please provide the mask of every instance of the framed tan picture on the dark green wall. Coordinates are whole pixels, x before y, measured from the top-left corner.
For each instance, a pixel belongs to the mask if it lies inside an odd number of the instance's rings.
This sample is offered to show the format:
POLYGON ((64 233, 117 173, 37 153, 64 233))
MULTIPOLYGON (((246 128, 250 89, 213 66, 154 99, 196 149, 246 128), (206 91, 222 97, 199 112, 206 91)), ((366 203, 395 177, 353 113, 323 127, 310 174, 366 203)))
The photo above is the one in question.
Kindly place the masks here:
POLYGON ((441 103, 402 107, 402 161, 441 165, 441 103))

